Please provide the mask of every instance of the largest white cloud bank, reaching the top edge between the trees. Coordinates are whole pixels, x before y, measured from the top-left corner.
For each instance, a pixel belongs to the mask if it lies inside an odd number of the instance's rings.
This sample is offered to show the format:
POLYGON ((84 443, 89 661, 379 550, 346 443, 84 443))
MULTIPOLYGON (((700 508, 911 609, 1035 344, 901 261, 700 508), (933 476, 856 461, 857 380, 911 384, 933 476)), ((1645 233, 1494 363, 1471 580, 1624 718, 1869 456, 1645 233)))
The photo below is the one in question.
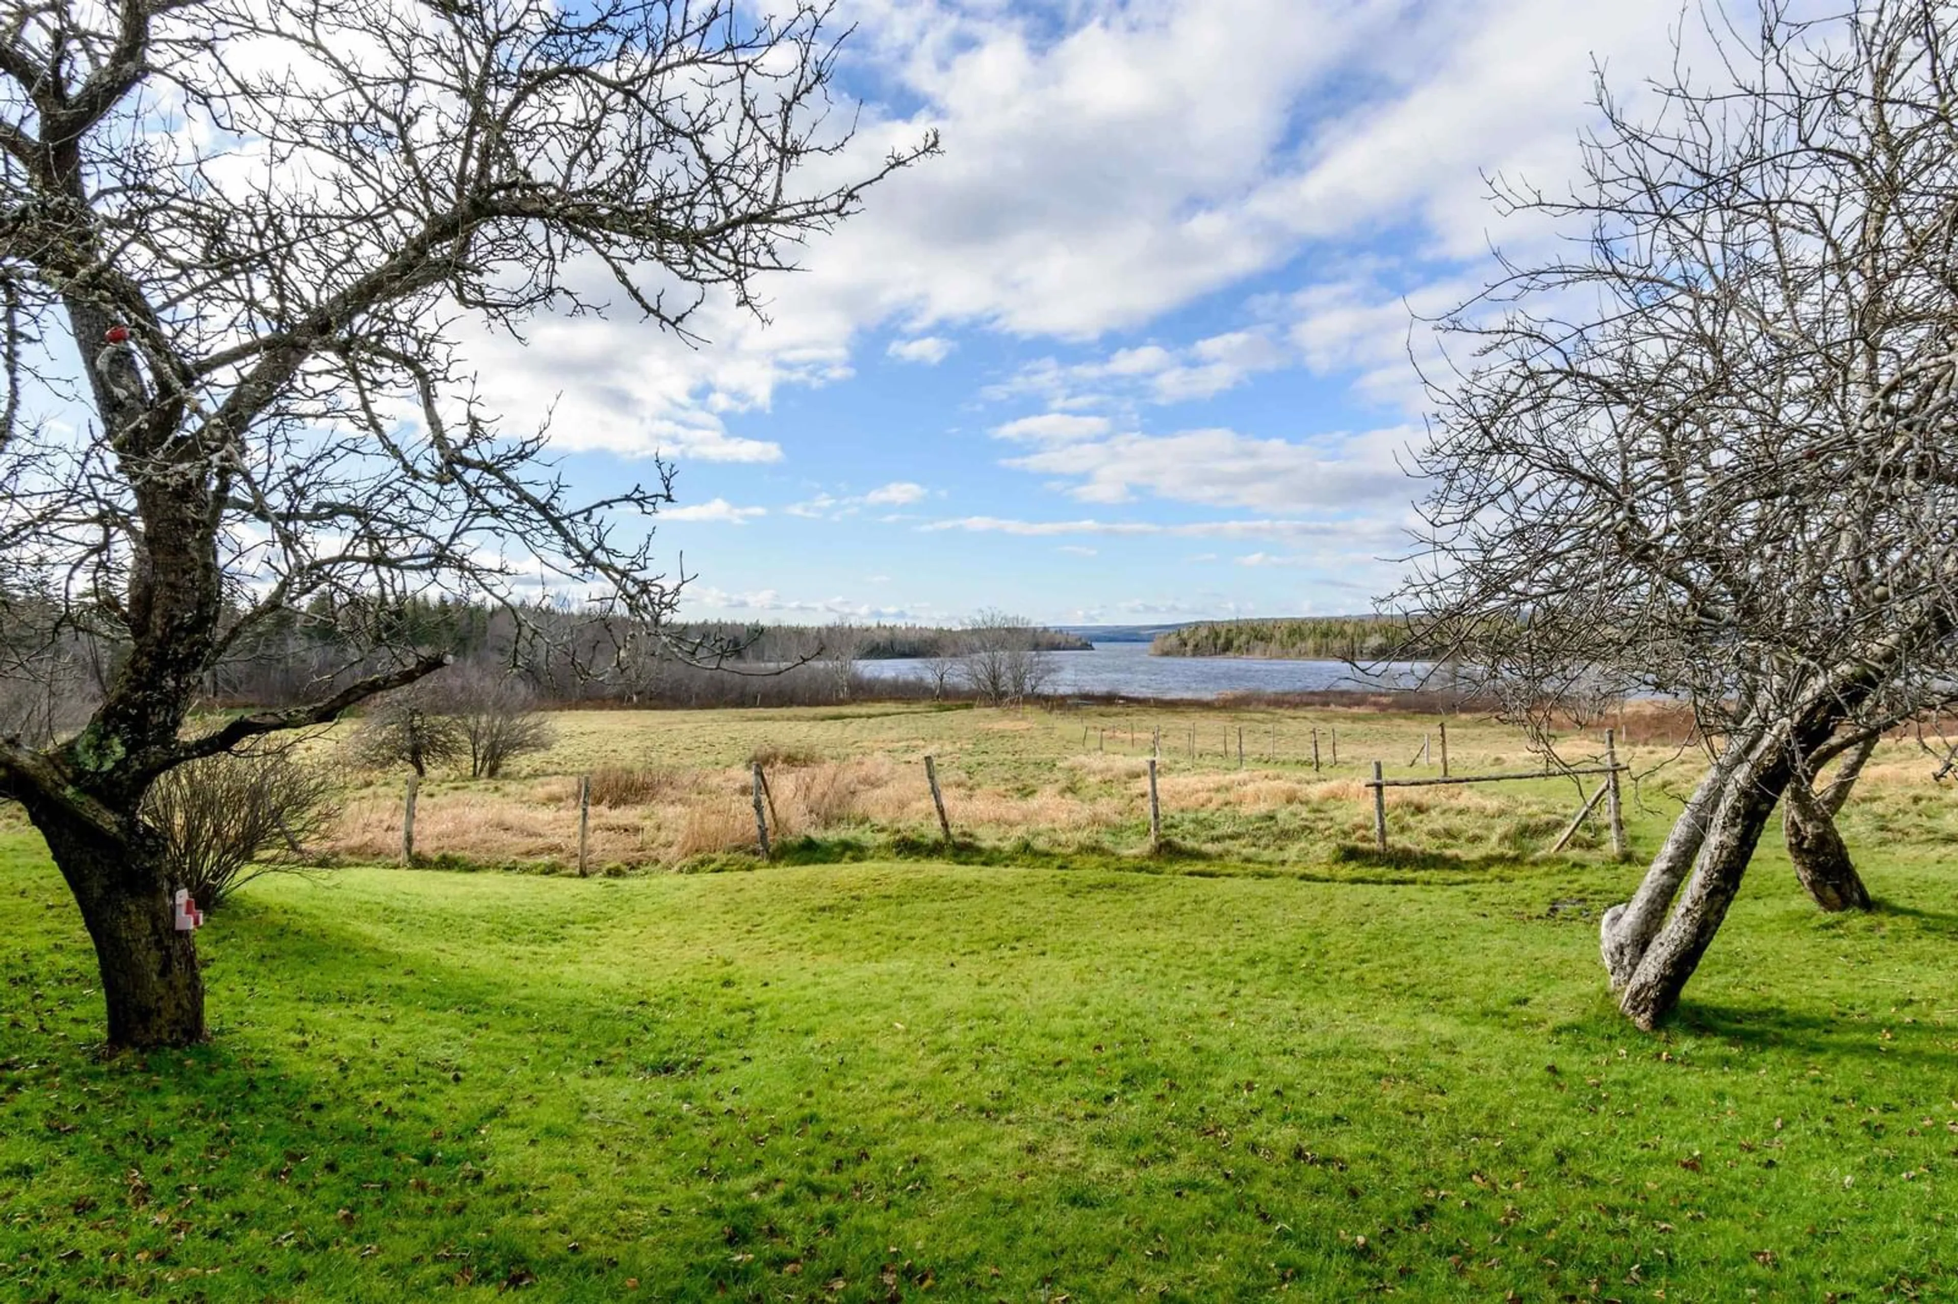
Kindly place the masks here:
MULTIPOLYGON (((517 427, 562 394, 564 446, 769 462, 783 450, 730 431, 728 417, 769 407, 785 384, 848 378, 854 341, 891 321, 907 339, 887 352, 928 364, 954 347, 950 327, 1059 339, 1140 329, 1306 249, 1345 268, 1382 227, 1425 256, 1480 260, 1492 231, 1506 245, 1541 237, 1496 219, 1482 174, 1551 188, 1570 176, 1592 57, 1635 96, 1668 57, 1676 16, 1602 0, 1071 0, 1024 12, 860 0, 854 18, 844 76, 863 69, 889 94, 865 106, 852 149, 807 180, 862 176, 928 127, 944 133, 944 155, 813 239, 801 274, 764 282, 771 325, 709 298, 697 350, 627 317, 468 341, 486 394, 517 427)), ((607 298, 603 268, 585 268, 580 288, 607 298)), ((1300 349, 1331 356, 1326 339, 1232 331, 1118 350, 1102 382, 1190 401, 1300 349)), ((1106 399, 1085 376, 1065 380, 1055 411, 1106 399)))

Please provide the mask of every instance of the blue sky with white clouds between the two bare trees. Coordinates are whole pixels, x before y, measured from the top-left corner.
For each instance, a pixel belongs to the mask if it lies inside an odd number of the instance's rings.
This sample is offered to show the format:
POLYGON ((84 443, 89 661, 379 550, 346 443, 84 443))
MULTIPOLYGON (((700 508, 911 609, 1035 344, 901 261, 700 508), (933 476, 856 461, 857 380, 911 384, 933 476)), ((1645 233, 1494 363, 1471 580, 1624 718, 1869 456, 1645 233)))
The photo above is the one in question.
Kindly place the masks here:
POLYGON ((844 0, 875 157, 944 155, 689 350, 488 358, 589 482, 679 466, 695 617, 1153 623, 1365 611, 1418 482, 1416 313, 1472 294, 1484 174, 1566 186, 1670 0, 844 0))

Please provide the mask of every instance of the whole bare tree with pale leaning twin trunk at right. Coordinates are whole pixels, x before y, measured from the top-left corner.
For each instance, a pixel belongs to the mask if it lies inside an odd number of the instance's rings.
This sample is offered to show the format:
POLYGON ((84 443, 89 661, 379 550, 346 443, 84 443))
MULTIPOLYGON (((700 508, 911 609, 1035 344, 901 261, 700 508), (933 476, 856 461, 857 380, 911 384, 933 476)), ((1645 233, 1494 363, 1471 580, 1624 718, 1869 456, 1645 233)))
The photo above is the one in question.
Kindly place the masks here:
MULTIPOLYGON (((1566 200, 1498 184, 1586 239, 1449 323, 1472 360, 1437 380, 1402 595, 1523 699, 1576 666, 1692 703, 1705 775, 1604 918, 1643 1028, 1784 793, 1821 828, 1823 766, 1958 681, 1958 10, 1705 16, 1719 82, 1680 72, 1637 121, 1602 92, 1566 200)), ((1868 901, 1823 850, 1817 897, 1868 901)))

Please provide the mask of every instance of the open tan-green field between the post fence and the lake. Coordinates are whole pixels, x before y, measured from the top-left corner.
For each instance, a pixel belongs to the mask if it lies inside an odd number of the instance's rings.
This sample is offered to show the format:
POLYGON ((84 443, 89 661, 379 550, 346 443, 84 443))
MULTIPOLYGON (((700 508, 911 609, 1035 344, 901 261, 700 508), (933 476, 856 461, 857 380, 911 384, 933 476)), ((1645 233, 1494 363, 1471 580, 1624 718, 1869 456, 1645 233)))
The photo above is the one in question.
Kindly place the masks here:
MULTIPOLYGON (((1136 709, 1001 713, 967 707, 858 705, 826 711, 574 711, 554 719, 558 742, 499 781, 437 775, 419 797, 419 854, 472 865, 562 869, 576 860, 578 775, 595 775, 591 863, 615 871, 701 867, 754 848, 748 762, 768 762, 777 836, 791 860, 909 856, 936 844, 924 783, 934 756, 965 852, 1063 856, 1071 863, 1132 860, 1147 846, 1151 732, 1161 730, 1165 836, 1189 856, 1234 863, 1308 865, 1337 848, 1373 844, 1361 781, 1375 760, 1390 777, 1439 773, 1435 719, 1375 711, 1136 709), (1194 730, 1196 754, 1190 754, 1194 730), (1312 768, 1312 734, 1320 769, 1312 768), (1237 764, 1243 738, 1245 762, 1237 764), (1333 744, 1337 734, 1337 758, 1333 744), (1427 756, 1416 762, 1423 738, 1427 756), (801 842, 801 844, 799 844, 801 842)), ((1633 719, 1643 769, 1678 744, 1633 719)), ((1537 768, 1517 730, 1453 721, 1455 773, 1537 768)), ((339 738, 313 744, 341 756, 339 738)), ((1598 756, 1604 728, 1561 744, 1598 756)), ((1899 754, 1901 756, 1901 754, 1899 754)), ((1913 762, 1915 764, 1915 762, 1913 762)), ((1923 787, 1923 768, 1911 769, 1923 787)), ((1688 766, 1647 775, 1656 809, 1690 783, 1688 766)), ((1876 779, 1880 785, 1882 779, 1876 779)), ((1455 856, 1515 858, 1551 840, 1578 805, 1564 781, 1396 789, 1396 842, 1455 856)), ((1580 852, 1604 846, 1594 822, 1580 852)), ((401 775, 349 773, 345 815, 329 850, 349 862, 392 860, 401 848, 401 775)))

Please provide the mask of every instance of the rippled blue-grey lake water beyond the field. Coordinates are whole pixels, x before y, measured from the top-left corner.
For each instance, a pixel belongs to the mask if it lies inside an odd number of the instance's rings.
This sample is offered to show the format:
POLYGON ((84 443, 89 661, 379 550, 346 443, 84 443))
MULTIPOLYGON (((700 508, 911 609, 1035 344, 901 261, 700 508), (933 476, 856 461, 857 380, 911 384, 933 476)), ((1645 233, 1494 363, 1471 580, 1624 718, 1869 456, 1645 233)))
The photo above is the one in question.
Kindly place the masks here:
MULTIPOLYGON (((1048 693, 1122 697, 1218 697, 1220 693, 1312 693, 1320 689, 1384 687, 1365 679, 1345 662, 1269 662, 1237 656, 1149 656, 1145 642, 1102 642, 1093 652, 1053 652, 1053 679, 1048 693)), ((1396 677, 1412 685, 1418 668, 1394 666, 1396 677)), ((924 679, 924 662, 899 658, 858 662, 867 679, 924 679)))

